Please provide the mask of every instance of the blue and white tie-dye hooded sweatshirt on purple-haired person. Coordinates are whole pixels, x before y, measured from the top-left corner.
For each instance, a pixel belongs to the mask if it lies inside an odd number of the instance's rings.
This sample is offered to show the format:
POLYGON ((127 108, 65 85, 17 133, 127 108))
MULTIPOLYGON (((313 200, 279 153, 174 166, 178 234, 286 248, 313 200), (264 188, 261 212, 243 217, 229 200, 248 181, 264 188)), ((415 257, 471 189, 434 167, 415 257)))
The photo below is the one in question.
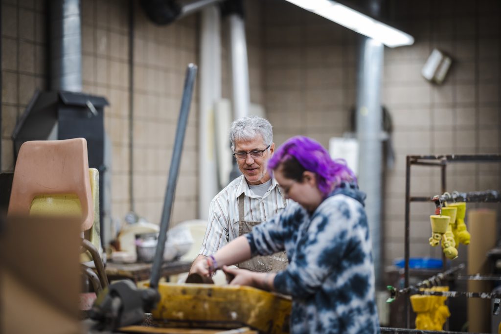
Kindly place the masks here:
POLYGON ((252 255, 287 251, 275 289, 291 295, 291 333, 379 333, 365 194, 343 183, 309 214, 292 202, 247 234, 252 255))

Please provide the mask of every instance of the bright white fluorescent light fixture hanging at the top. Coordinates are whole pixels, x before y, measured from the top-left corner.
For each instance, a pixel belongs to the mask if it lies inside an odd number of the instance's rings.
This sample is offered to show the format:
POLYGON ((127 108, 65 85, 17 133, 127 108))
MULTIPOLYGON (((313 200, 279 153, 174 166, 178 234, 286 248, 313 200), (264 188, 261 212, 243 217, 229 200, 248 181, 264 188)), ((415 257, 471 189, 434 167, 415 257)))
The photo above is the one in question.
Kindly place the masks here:
POLYGON ((414 44, 414 38, 398 29, 331 0, 287 0, 354 32, 379 41, 390 48, 414 44))

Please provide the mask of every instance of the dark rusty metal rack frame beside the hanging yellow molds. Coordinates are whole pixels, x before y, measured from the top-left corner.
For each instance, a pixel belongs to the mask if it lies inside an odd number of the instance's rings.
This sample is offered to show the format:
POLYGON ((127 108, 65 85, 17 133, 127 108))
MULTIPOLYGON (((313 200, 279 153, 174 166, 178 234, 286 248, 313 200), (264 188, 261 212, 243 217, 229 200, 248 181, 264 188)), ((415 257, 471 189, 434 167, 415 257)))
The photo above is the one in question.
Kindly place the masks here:
MULTIPOLYGON (((446 169, 448 163, 464 163, 464 162, 501 162, 501 155, 499 154, 485 154, 485 155, 408 155, 406 158, 405 165, 405 266, 404 266, 404 279, 405 288, 409 287, 409 236, 410 236, 410 203, 411 202, 433 202, 433 197, 414 197, 410 195, 410 172, 412 165, 418 166, 431 166, 440 168, 440 187, 441 194, 445 193, 446 190, 446 169)), ((493 196, 478 196, 478 193, 474 193, 474 196, 468 196, 469 193, 465 193, 464 198, 466 202, 499 202, 499 197, 493 196)), ((471 193, 473 195, 473 193, 471 193)), ((447 261, 442 254, 442 261, 444 270, 446 269, 447 261)), ((404 303, 404 313, 406 317, 407 328, 410 327, 410 305, 409 298, 406 298, 404 303)))

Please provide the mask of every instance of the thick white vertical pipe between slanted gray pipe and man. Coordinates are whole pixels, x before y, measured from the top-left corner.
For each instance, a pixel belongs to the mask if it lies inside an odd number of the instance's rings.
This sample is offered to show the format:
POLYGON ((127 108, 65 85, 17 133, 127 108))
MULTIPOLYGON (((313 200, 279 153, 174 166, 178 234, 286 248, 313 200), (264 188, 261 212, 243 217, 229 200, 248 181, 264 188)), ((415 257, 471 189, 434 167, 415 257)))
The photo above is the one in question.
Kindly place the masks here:
POLYGON ((221 99, 221 15, 217 6, 202 11, 200 26, 200 118, 198 135, 198 216, 206 220, 218 192, 214 107, 221 99))

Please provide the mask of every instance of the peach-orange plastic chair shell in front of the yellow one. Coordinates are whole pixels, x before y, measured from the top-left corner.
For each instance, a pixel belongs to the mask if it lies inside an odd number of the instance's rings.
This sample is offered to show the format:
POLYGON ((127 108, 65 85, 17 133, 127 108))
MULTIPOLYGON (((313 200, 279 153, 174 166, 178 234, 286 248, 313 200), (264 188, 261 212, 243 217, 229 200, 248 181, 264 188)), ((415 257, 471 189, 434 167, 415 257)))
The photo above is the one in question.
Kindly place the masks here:
POLYGON ((44 211, 43 203, 47 205, 54 201, 66 205, 51 205, 51 214, 81 214, 80 230, 92 227, 94 203, 84 138, 29 141, 19 150, 8 216, 36 215, 44 211), (52 199, 36 201, 44 197, 52 199), (37 205, 32 208, 34 203, 37 205))

